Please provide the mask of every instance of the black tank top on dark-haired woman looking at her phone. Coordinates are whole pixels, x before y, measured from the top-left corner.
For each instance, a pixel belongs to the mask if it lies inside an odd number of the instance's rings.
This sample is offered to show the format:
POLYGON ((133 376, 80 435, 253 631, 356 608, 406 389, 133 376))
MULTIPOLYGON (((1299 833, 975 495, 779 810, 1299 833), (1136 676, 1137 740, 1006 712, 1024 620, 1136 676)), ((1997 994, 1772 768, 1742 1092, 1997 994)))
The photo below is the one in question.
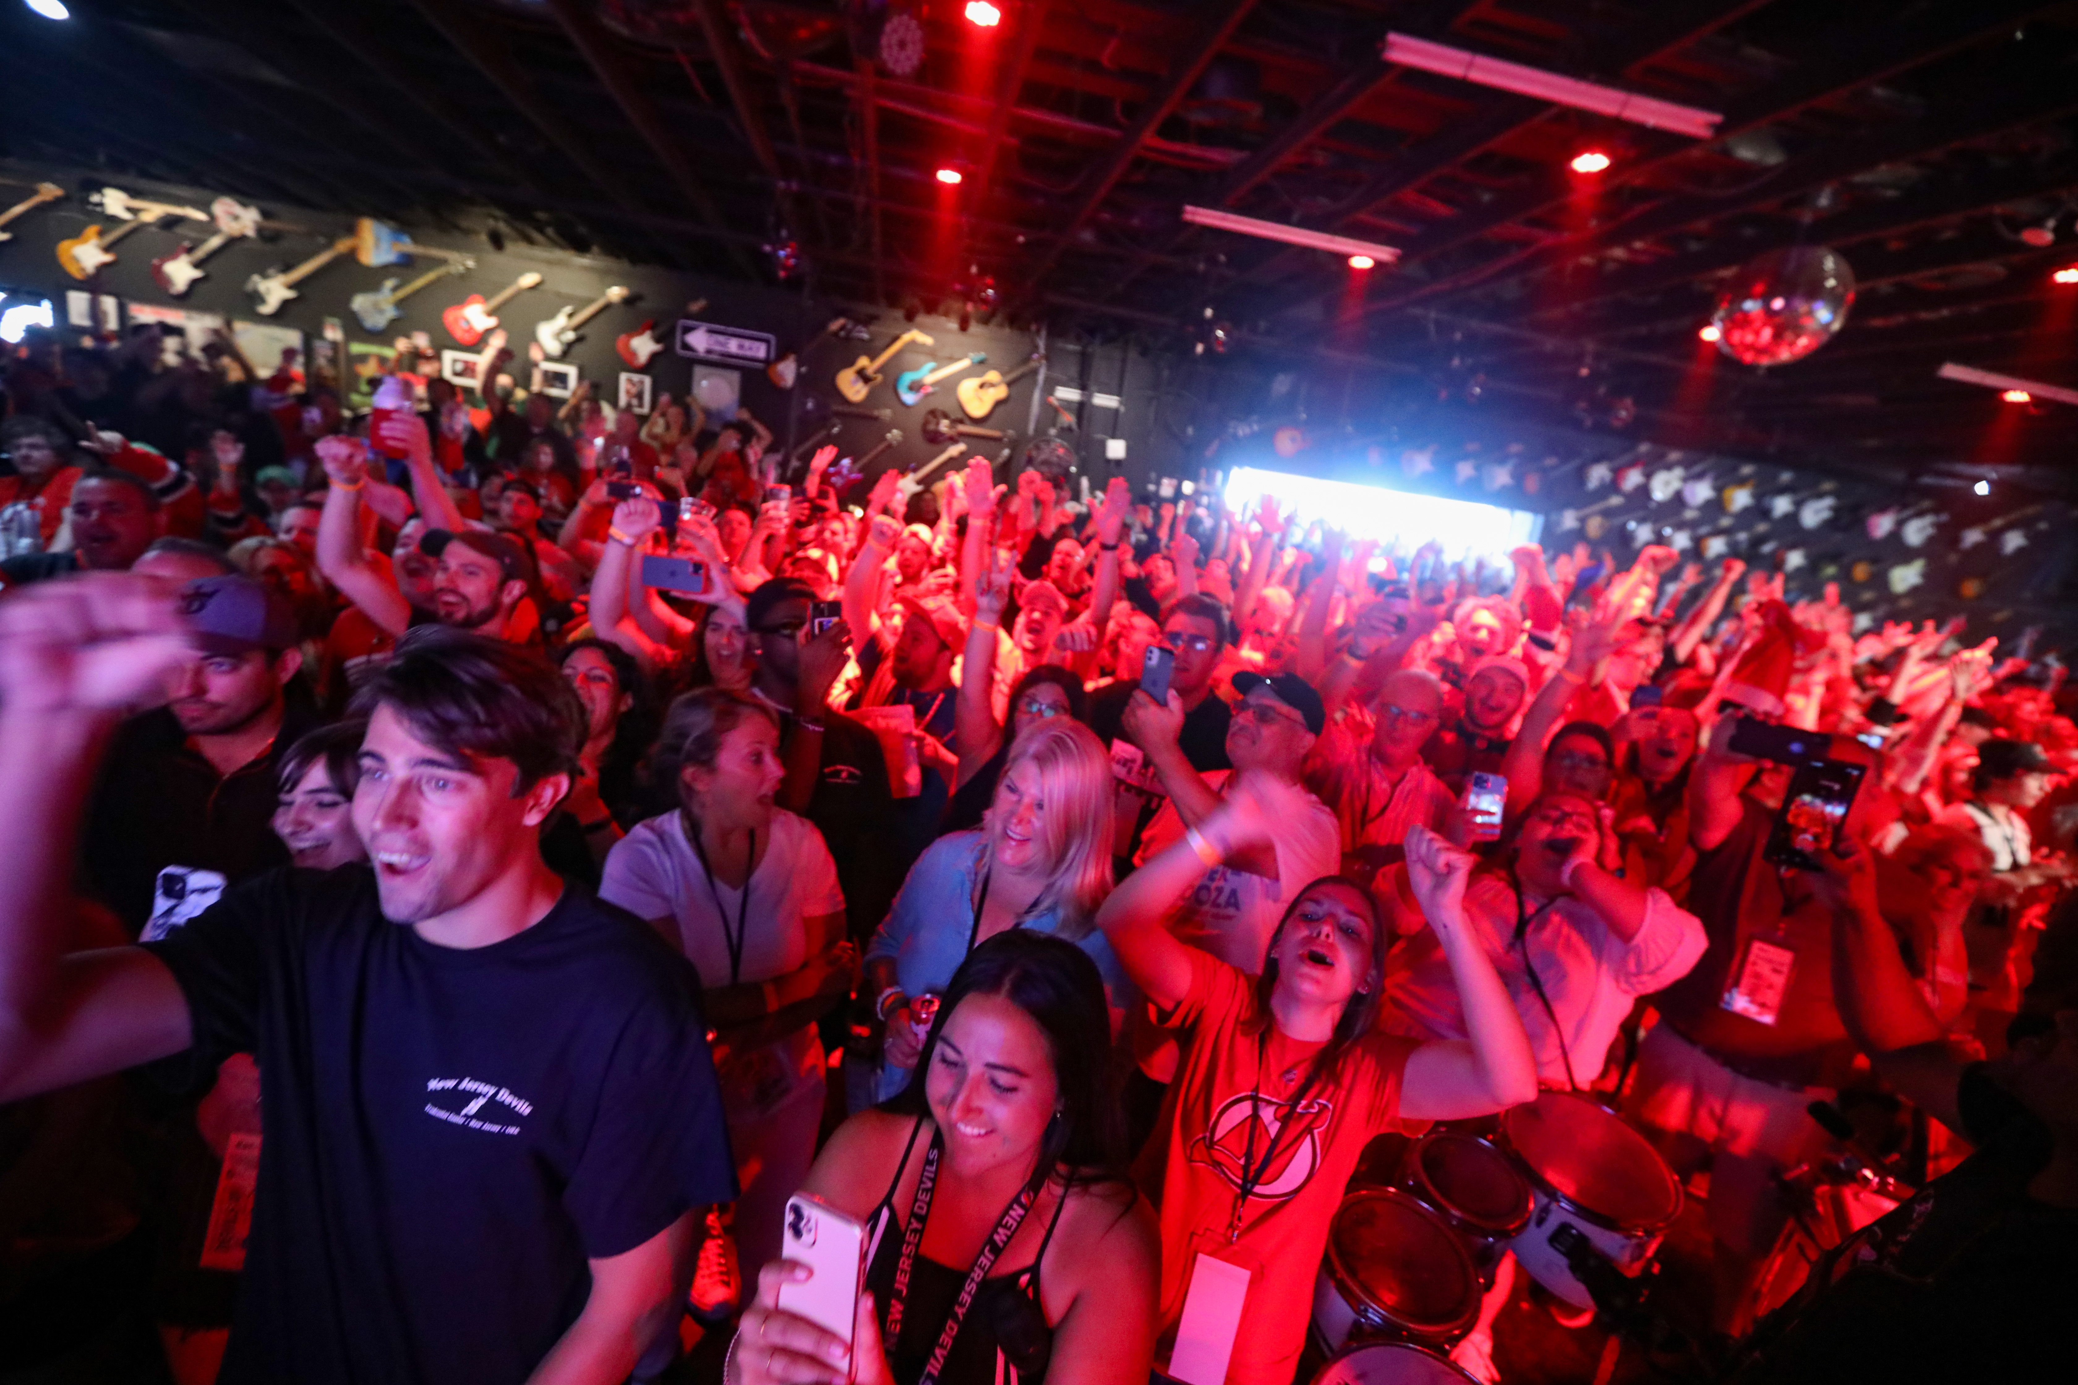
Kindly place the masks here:
MULTIPOLYGON (((902 1163, 887 1184, 887 1194, 867 1217, 867 1287, 887 1321, 887 1296, 896 1283, 896 1260, 902 1258, 902 1219, 896 1217, 896 1190, 916 1152, 916 1134, 923 1117, 910 1130, 908 1144, 902 1146, 902 1163)), ((975 1292, 975 1304, 966 1310, 960 1335, 952 1341, 952 1354, 937 1373, 941 1385, 1039 1385, 1045 1381, 1047 1360, 1054 1354, 1054 1329, 1045 1321, 1039 1302, 1039 1267, 1045 1262, 1047 1246, 1054 1244, 1054 1227, 1068 1206, 1062 1196, 1054 1204, 1054 1219, 1039 1242, 1039 1254, 1020 1271, 989 1275, 975 1292)), ((952 1304, 960 1298, 968 1267, 939 1265, 916 1256, 910 1273, 908 1306, 902 1312, 902 1339, 887 1343, 887 1364, 898 1385, 912 1385, 923 1375, 925 1364, 937 1348, 937 1335, 952 1316, 952 1304)))

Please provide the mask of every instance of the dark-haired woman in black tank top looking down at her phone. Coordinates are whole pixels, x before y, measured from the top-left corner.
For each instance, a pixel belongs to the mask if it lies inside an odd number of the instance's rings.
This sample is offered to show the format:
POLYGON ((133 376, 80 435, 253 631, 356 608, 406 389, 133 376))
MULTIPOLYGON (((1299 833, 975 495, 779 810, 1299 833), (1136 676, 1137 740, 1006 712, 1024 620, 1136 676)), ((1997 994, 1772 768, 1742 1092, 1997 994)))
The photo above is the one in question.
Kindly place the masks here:
POLYGON ((850 1339, 779 1306, 817 1273, 856 1273, 804 1248, 817 1267, 758 1275, 723 1383, 1143 1385, 1157 1242, 1122 1171, 1103 1007, 1072 943, 979 945, 916 1080, 840 1125, 802 1186, 864 1223, 850 1339))

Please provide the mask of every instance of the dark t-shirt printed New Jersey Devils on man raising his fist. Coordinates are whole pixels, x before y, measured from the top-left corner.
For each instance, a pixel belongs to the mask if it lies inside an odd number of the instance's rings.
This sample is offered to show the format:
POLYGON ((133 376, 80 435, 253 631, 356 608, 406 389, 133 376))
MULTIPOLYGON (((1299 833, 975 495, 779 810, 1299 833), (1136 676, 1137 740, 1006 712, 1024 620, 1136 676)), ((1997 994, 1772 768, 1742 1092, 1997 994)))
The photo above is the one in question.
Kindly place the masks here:
POLYGON ((578 1316, 586 1258, 736 1196, 692 966, 569 885, 449 949, 366 866, 276 870, 148 945, 206 1084, 254 1053, 260 1190, 224 1385, 517 1385, 578 1316))

